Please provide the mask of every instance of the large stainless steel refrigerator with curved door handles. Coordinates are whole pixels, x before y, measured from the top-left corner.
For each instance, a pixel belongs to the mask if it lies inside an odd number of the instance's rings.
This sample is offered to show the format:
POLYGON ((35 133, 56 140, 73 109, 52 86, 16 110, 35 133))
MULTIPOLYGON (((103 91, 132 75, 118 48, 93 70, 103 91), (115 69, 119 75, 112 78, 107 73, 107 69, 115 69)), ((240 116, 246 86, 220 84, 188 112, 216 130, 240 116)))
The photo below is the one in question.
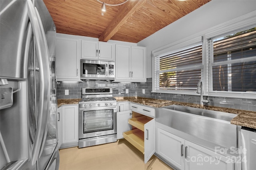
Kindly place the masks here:
POLYGON ((58 169, 54 22, 42 0, 0 0, 0 169, 58 169))

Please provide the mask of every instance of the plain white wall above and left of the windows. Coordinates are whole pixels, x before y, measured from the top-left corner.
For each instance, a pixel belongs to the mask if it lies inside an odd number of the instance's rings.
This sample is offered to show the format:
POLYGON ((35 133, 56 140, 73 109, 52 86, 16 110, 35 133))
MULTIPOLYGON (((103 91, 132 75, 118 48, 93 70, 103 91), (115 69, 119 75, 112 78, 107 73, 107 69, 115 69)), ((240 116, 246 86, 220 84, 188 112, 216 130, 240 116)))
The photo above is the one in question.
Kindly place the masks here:
POLYGON ((256 0, 212 0, 138 42, 138 46, 146 47, 147 78, 152 77, 152 50, 255 10, 256 0))

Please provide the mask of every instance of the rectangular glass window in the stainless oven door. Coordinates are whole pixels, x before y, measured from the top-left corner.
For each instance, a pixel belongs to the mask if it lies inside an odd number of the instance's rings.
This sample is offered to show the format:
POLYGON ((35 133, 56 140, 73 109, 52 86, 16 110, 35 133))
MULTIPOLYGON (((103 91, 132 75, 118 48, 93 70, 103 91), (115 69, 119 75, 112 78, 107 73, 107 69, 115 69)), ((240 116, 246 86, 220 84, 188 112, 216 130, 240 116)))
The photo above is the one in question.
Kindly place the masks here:
POLYGON ((114 110, 83 111, 83 133, 114 129, 114 110))

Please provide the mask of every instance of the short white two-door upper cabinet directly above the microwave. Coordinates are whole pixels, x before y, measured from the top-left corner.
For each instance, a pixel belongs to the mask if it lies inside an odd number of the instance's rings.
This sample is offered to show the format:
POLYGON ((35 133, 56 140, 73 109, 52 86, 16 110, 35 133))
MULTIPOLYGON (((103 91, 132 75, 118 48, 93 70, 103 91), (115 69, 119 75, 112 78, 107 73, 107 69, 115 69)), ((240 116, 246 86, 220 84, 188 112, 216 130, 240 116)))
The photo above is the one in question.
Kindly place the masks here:
POLYGON ((82 40, 82 59, 114 61, 114 44, 82 40))

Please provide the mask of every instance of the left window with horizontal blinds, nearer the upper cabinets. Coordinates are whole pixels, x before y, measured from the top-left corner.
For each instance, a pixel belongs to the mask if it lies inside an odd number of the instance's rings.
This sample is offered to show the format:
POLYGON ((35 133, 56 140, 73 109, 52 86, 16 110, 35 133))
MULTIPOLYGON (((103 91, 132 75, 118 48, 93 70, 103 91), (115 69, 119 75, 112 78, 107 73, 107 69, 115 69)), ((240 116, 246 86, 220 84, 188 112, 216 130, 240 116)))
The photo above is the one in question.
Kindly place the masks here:
POLYGON ((202 43, 154 58, 155 90, 196 91, 201 79, 202 43))

